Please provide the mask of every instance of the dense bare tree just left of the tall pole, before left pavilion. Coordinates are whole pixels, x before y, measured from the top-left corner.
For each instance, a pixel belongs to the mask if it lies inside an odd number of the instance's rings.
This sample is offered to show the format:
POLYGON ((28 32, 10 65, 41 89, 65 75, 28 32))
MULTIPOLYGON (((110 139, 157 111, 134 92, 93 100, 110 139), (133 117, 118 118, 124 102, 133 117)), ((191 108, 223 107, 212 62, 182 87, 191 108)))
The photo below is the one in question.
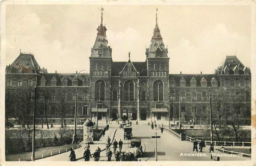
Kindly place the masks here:
POLYGON ((32 116, 31 110, 33 108, 33 94, 34 89, 32 87, 22 87, 21 89, 17 90, 15 94, 17 97, 15 99, 15 110, 14 110, 14 118, 18 121, 18 124, 27 128, 29 128, 30 124, 32 123, 32 116))

